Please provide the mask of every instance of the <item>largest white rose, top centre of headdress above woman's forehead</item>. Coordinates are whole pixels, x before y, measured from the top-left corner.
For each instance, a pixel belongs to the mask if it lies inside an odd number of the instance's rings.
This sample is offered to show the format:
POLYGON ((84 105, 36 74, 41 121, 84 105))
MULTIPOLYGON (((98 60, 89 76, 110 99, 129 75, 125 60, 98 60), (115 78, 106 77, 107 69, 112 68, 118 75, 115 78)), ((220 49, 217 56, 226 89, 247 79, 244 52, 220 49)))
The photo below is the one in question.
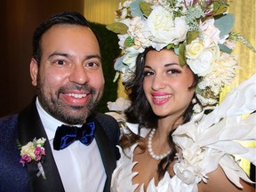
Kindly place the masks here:
POLYGON ((178 44, 184 41, 188 31, 185 17, 173 20, 172 12, 157 6, 148 16, 148 28, 153 35, 152 46, 157 51, 166 44, 178 44))

